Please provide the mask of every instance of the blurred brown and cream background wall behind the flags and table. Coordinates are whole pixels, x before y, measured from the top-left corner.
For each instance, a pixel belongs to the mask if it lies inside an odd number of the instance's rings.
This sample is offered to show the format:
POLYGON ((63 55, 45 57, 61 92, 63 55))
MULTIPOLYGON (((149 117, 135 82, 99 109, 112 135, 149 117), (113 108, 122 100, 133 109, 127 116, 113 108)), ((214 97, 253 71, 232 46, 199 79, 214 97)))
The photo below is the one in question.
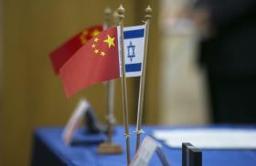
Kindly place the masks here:
MULTIPOLYGON (((144 95, 144 124, 210 122, 204 73, 196 65, 193 27, 170 33, 168 16, 183 0, 123 0, 124 25, 142 23, 144 8, 154 10, 150 27, 144 95)), ((106 6, 117 0, 0 1, 0 165, 29 164, 33 130, 63 126, 81 97, 88 99, 101 121, 106 91, 102 84, 67 99, 48 55, 80 30, 101 24, 106 6)), ((130 123, 136 121, 139 78, 129 78, 130 123)), ((115 117, 123 124, 121 80, 116 80, 115 117)))

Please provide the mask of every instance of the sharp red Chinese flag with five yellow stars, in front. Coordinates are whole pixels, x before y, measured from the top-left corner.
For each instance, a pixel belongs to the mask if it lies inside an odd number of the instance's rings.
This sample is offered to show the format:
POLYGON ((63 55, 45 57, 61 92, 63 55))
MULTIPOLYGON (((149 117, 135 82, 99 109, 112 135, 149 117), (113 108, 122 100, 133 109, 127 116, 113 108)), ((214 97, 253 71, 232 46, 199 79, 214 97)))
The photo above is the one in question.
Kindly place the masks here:
POLYGON ((120 77, 117 41, 117 27, 102 31, 60 68, 60 78, 68 97, 81 88, 120 77))

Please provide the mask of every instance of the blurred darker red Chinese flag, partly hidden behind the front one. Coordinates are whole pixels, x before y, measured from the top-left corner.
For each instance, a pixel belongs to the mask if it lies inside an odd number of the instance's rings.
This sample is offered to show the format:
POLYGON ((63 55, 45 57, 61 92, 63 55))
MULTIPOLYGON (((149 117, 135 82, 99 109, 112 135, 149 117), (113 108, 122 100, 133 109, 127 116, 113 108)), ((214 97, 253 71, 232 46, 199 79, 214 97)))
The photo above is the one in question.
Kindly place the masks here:
POLYGON ((62 46, 58 47, 50 54, 50 60, 54 72, 59 74, 59 68, 62 67, 75 52, 93 36, 97 36, 102 31, 102 26, 91 26, 83 30, 76 36, 73 36, 62 46))

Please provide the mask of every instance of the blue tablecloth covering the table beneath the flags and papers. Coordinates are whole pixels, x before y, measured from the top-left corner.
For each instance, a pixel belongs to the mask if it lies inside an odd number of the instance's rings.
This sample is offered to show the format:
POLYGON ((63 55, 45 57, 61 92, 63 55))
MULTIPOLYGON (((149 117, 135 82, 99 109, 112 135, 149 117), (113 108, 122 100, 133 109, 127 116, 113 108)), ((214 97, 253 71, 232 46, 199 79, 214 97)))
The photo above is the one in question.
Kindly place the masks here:
MULTIPOLYGON (((162 127, 144 127, 146 133, 162 127)), ((166 129, 166 128, 165 128, 166 129)), ((75 166, 121 166, 126 165, 125 153, 119 155, 101 155, 97 153, 98 141, 83 142, 83 131, 80 129, 75 137, 80 138, 80 143, 66 146, 61 140, 62 128, 38 129, 34 135, 31 165, 75 165, 75 166)), ((131 133, 135 130, 130 127, 131 133)), ((95 140, 101 140, 94 136, 95 140)), ((102 137, 102 136, 101 136, 102 137)), ((94 139, 93 139, 94 140, 94 139)), ((122 145, 125 150, 123 127, 117 127, 113 141, 122 145)), ((256 141, 256 140, 255 140, 256 141)), ((135 135, 131 134, 131 152, 134 154, 135 135)), ((172 166, 181 166, 181 150, 164 146, 165 154, 172 166)), ((256 150, 202 150, 203 166, 256 166, 256 150)), ((150 165, 161 165, 154 155, 150 165)))

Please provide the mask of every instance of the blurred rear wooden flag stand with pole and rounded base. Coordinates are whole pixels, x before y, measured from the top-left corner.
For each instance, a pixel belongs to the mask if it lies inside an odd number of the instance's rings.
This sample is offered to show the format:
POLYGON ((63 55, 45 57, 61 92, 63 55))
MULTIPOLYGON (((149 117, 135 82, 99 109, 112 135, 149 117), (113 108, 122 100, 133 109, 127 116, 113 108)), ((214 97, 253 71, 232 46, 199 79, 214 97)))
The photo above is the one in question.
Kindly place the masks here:
MULTIPOLYGON (((103 30, 107 29, 110 26, 110 17, 112 10, 109 7, 105 8, 105 24, 103 30)), ((112 127, 115 123, 113 109, 114 109, 114 80, 110 80, 106 83, 107 88, 107 137, 108 140, 100 144, 98 152, 101 154, 119 154, 123 152, 123 149, 120 145, 112 142, 112 127)))

